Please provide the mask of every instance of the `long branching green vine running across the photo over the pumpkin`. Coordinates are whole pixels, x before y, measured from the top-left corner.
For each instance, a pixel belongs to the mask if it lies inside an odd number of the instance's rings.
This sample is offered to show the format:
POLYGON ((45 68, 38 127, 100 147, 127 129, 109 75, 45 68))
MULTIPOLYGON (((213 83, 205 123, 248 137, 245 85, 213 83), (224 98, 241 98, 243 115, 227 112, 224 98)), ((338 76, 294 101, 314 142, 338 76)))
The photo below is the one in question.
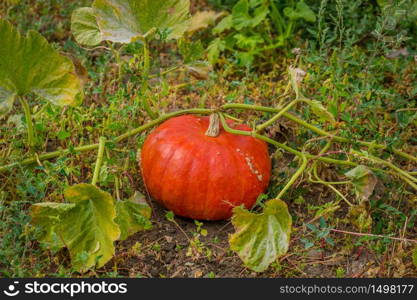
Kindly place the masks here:
MULTIPOLYGON (((349 160, 338 160, 338 159, 334 159, 334 158, 330 158, 330 157, 326 157, 324 156, 325 151, 327 150, 327 148, 330 146, 326 146, 325 149, 323 149, 318 155, 313 155, 311 153, 308 152, 301 152, 299 150, 296 150, 288 145, 279 143, 273 139, 270 139, 266 136, 263 136, 261 134, 259 134, 258 132, 260 130, 263 130, 264 128, 266 128, 267 126, 270 126, 273 124, 273 122, 277 121, 281 116, 288 118, 289 120, 294 121, 295 123, 312 130, 313 132, 321 135, 321 136, 325 136, 325 137, 330 137, 332 141, 337 141, 337 142, 342 142, 342 143, 352 143, 352 144, 359 144, 365 147, 370 147, 373 146, 374 148, 379 148, 379 149, 383 149, 386 151, 390 151, 387 147, 385 147, 384 145, 380 145, 380 144, 374 144, 374 143, 369 143, 369 142, 364 142, 364 141, 356 141, 355 143, 350 141, 347 138, 343 138, 343 137, 339 137, 336 135, 333 135, 327 131, 324 131, 322 129, 319 129, 301 119, 299 119, 298 117, 294 116, 291 113, 288 113, 288 110, 293 107, 296 103, 298 102, 302 102, 304 101, 303 99, 298 99, 298 100, 294 100, 292 102, 290 102, 288 105, 286 105, 284 108, 271 108, 271 107, 264 107, 264 106, 257 106, 257 105, 249 105, 249 104, 225 104, 223 106, 221 106, 219 109, 186 109, 186 110, 181 110, 181 111, 177 111, 177 112, 173 112, 173 113, 168 113, 162 116, 159 116, 158 118, 151 120, 150 122, 132 129, 118 137, 115 137, 113 139, 114 142, 116 143, 120 143, 124 140, 126 140, 127 138, 134 136, 136 134, 139 134, 147 129, 150 129, 156 125, 158 125, 159 123, 170 119, 172 117, 176 117, 179 115, 183 115, 183 114, 212 114, 212 113, 218 113, 221 123, 223 125, 223 128, 230 133, 233 134, 240 134, 240 135, 247 135, 247 136, 253 136, 255 138, 258 138, 260 140, 263 140, 267 143, 270 143, 278 148, 281 148, 291 154, 294 154, 295 156, 297 156, 300 160, 301 160, 301 165, 299 167, 299 169, 295 172, 295 174, 292 176, 292 178, 290 179, 290 181, 287 183, 287 185, 283 188, 283 190, 280 192, 280 194, 278 195, 278 198, 281 198, 284 193, 294 184, 294 182, 296 181, 296 179, 305 171, 306 167, 307 167, 307 163, 308 161, 321 161, 321 162, 325 162, 325 163, 329 163, 329 164, 336 164, 336 165, 346 165, 346 166, 353 166, 356 167, 359 164, 353 161, 349 161, 349 160), (244 109, 244 110, 254 110, 254 111, 262 111, 262 112, 270 112, 270 113, 275 113, 274 116, 272 116, 269 120, 267 120, 265 123, 261 124, 260 126, 258 126, 256 128, 256 130, 253 131, 242 131, 242 130, 236 130, 231 128, 230 126, 227 125, 225 118, 226 117, 231 117, 230 115, 227 115, 225 112, 227 110, 236 110, 236 109, 244 109)), ((235 117, 232 117, 233 119, 236 119, 235 117)), ((102 140, 102 139, 100 139, 102 140)), ((105 144, 103 142, 101 142, 101 144, 105 144)), ((104 147, 104 146, 103 146, 104 147)), ((85 152, 85 151, 90 151, 90 150, 94 150, 100 148, 100 143, 98 144, 91 144, 91 145, 85 145, 85 146, 80 146, 80 147, 76 147, 74 148, 74 150, 76 152, 85 152)), ((16 166, 24 166, 24 165, 30 165, 33 163, 36 163, 37 161, 42 161, 42 160, 47 160, 47 159, 52 159, 61 155, 66 155, 70 152, 69 149, 63 149, 63 150, 58 150, 58 151, 54 151, 54 152, 50 152, 50 153, 44 153, 41 154, 39 156, 33 157, 33 158, 28 158, 25 159, 21 162, 15 162, 15 163, 11 163, 5 166, 1 166, 0 167, 0 173, 3 173, 7 170, 10 170, 16 166)), ((410 154, 407 154, 405 152, 399 151, 399 150, 393 150, 393 153, 403 157, 403 158, 409 158, 410 160, 413 161, 417 161, 417 157, 414 157, 410 154)), ((395 166, 394 164, 392 164, 391 162, 385 161, 381 158, 377 158, 375 156, 371 156, 371 155, 364 155, 361 152, 355 151, 355 150, 351 150, 352 155, 355 156, 360 156, 361 158, 365 158, 368 159, 370 161, 372 161, 373 163, 376 164, 381 164, 384 165, 385 167, 388 167, 389 170, 385 170, 385 169, 379 169, 379 168, 375 168, 375 167, 370 167, 370 169, 372 170, 376 170, 376 171, 382 171, 385 173, 389 173, 391 175, 395 175, 398 176, 399 178, 401 178, 402 180, 404 180, 407 184, 409 184, 413 189, 417 190, 417 178, 415 178, 413 176, 412 173, 410 172, 406 172, 402 169, 400 169, 399 167, 395 166)), ((99 157, 100 157, 100 151, 99 151, 99 157)), ((97 169, 97 165, 99 165, 98 163, 96 164, 96 169, 97 169)), ((318 176, 317 173, 317 165, 313 164, 312 168, 310 168, 310 173, 311 170, 313 171, 313 175, 314 175, 314 179, 312 178, 312 176, 310 175, 310 181, 312 182, 317 182, 317 183, 321 183, 321 184, 325 184, 326 186, 328 186, 329 188, 331 188, 332 190, 334 190, 337 194, 339 194, 348 204, 349 201, 346 200, 345 197, 343 197, 343 195, 338 192, 337 190, 335 190, 335 188, 332 186, 334 184, 345 184, 345 183, 349 183, 349 181, 342 181, 342 182, 325 182, 323 180, 321 180, 318 176)), ((97 171, 97 170, 96 170, 97 171)), ((96 175, 96 171, 94 172, 95 176, 96 175)), ((98 172, 98 171, 97 171, 98 172)))

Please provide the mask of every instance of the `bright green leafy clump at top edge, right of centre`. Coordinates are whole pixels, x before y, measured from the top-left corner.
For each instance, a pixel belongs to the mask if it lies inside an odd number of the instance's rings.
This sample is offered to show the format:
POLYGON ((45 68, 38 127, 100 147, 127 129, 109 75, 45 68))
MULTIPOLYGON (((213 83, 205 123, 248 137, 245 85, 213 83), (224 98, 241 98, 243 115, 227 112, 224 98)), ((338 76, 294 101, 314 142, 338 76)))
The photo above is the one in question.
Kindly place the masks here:
POLYGON ((209 61, 215 64, 222 52, 231 51, 239 66, 248 67, 262 52, 290 44, 302 22, 315 20, 303 0, 239 0, 213 29, 218 38, 210 43, 209 61))

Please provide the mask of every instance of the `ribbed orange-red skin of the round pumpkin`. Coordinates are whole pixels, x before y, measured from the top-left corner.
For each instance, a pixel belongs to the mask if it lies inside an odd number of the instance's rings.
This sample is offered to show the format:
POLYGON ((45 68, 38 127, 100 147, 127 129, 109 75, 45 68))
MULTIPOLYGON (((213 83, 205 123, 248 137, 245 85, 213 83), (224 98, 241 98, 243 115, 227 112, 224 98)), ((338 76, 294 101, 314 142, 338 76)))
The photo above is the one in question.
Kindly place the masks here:
POLYGON ((164 122, 145 140, 142 175, 152 198, 176 215, 222 220, 235 206, 255 204, 268 186, 271 161, 263 141, 223 128, 219 136, 208 137, 208 126, 209 117, 194 115, 164 122))

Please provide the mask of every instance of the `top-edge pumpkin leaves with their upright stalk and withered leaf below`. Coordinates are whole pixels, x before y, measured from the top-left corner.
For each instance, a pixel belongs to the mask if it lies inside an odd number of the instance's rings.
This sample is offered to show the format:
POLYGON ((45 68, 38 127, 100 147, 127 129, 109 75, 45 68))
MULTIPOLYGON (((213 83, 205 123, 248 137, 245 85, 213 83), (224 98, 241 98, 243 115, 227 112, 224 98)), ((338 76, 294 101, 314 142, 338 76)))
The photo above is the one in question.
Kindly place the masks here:
MULTIPOLYGON (((82 45, 96 46, 102 41, 121 44, 112 47, 119 66, 119 80, 126 69, 126 73, 132 74, 133 70, 133 73, 141 77, 138 99, 142 102, 143 109, 154 119, 158 116, 159 108, 155 107, 157 101, 150 97, 152 88, 148 79, 154 60, 149 51, 150 42, 160 39, 183 40, 188 43, 191 34, 213 24, 222 15, 206 12, 191 17, 189 9, 189 0, 95 0, 91 7, 82 7, 73 12, 71 31, 75 40, 82 45), (142 44, 138 53, 141 62, 133 68, 126 68, 126 64, 120 60, 121 53, 126 50, 126 44, 134 42, 142 44)), ((190 49, 200 58, 204 52, 201 53, 199 47, 194 47, 196 45, 190 43, 190 47, 193 47, 190 49)), ((210 67, 199 58, 195 61, 188 59, 188 62, 179 63, 151 76, 162 77, 170 72, 185 70, 199 80, 207 79, 210 67)))

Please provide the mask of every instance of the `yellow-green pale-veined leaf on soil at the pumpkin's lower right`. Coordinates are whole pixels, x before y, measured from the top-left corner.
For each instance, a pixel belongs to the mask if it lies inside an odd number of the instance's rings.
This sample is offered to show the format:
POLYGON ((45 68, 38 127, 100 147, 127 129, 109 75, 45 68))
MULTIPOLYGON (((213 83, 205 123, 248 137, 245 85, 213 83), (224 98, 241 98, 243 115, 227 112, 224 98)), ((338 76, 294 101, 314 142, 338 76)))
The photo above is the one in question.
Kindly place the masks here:
POLYGON ((261 214, 236 207, 232 223, 236 232, 230 236, 230 248, 251 270, 265 271, 288 251, 292 220, 285 202, 269 200, 261 214))

